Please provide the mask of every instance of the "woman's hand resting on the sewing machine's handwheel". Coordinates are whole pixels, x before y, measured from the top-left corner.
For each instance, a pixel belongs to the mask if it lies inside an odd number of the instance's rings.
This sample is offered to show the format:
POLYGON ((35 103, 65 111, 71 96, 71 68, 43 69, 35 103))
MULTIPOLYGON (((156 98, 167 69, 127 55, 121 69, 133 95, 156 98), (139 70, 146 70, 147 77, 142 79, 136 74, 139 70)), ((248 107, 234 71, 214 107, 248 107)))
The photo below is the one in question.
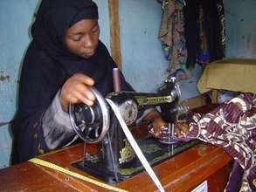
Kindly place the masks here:
POLYGON ((88 76, 76 73, 66 80, 59 94, 61 106, 65 112, 68 111, 69 103, 85 103, 93 106, 95 97, 88 86, 93 86, 94 80, 88 76))

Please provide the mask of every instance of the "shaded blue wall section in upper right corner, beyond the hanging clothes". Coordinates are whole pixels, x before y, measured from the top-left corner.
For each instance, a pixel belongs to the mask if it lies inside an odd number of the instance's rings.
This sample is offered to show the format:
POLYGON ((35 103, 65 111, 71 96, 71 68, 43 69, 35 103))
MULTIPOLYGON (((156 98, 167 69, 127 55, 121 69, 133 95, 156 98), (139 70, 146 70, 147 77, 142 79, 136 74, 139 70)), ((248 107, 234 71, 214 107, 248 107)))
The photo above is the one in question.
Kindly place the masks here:
POLYGON ((256 1, 224 0, 226 55, 231 58, 256 58, 256 1))

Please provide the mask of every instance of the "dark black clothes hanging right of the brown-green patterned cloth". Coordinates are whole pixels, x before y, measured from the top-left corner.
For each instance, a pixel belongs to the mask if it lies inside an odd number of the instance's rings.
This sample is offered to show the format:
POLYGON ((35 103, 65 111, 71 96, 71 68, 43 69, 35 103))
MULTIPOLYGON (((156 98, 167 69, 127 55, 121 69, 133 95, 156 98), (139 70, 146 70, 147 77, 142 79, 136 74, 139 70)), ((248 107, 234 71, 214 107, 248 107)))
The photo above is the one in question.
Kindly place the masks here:
POLYGON ((223 0, 184 0, 184 37, 187 68, 225 57, 223 0))

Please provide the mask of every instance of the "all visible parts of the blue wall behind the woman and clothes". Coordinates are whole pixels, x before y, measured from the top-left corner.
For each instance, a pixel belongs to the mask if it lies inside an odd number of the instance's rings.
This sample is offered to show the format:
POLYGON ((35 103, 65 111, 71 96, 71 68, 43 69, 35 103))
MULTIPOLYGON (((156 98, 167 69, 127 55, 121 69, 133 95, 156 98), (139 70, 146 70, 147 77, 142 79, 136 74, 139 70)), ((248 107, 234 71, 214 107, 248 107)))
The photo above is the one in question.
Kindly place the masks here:
MULTIPOLYGON (((100 11, 100 39, 109 49, 107 0, 95 0, 100 11)), ((0 168, 9 165, 11 135, 9 123, 16 111, 19 68, 30 42, 29 27, 35 0, 0 1, 0 168)), ((227 56, 255 58, 256 2, 225 0, 227 56)), ((122 70, 139 92, 155 92, 166 77, 168 62, 157 39, 162 10, 156 0, 121 0, 122 70)), ((181 82, 182 99, 198 94, 196 83, 201 68, 192 79, 181 82)))

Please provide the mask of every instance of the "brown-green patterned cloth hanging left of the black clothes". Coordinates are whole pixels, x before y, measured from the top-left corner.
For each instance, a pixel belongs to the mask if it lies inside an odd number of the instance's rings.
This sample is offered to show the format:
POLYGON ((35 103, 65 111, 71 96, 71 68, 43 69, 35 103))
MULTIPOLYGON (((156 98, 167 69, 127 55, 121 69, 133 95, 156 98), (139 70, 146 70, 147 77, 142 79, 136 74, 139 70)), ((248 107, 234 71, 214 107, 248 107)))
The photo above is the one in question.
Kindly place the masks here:
POLYGON ((175 74, 178 79, 191 77, 186 69, 187 50, 184 38, 183 0, 163 0, 162 21, 159 39, 165 57, 170 60, 168 72, 175 74))

